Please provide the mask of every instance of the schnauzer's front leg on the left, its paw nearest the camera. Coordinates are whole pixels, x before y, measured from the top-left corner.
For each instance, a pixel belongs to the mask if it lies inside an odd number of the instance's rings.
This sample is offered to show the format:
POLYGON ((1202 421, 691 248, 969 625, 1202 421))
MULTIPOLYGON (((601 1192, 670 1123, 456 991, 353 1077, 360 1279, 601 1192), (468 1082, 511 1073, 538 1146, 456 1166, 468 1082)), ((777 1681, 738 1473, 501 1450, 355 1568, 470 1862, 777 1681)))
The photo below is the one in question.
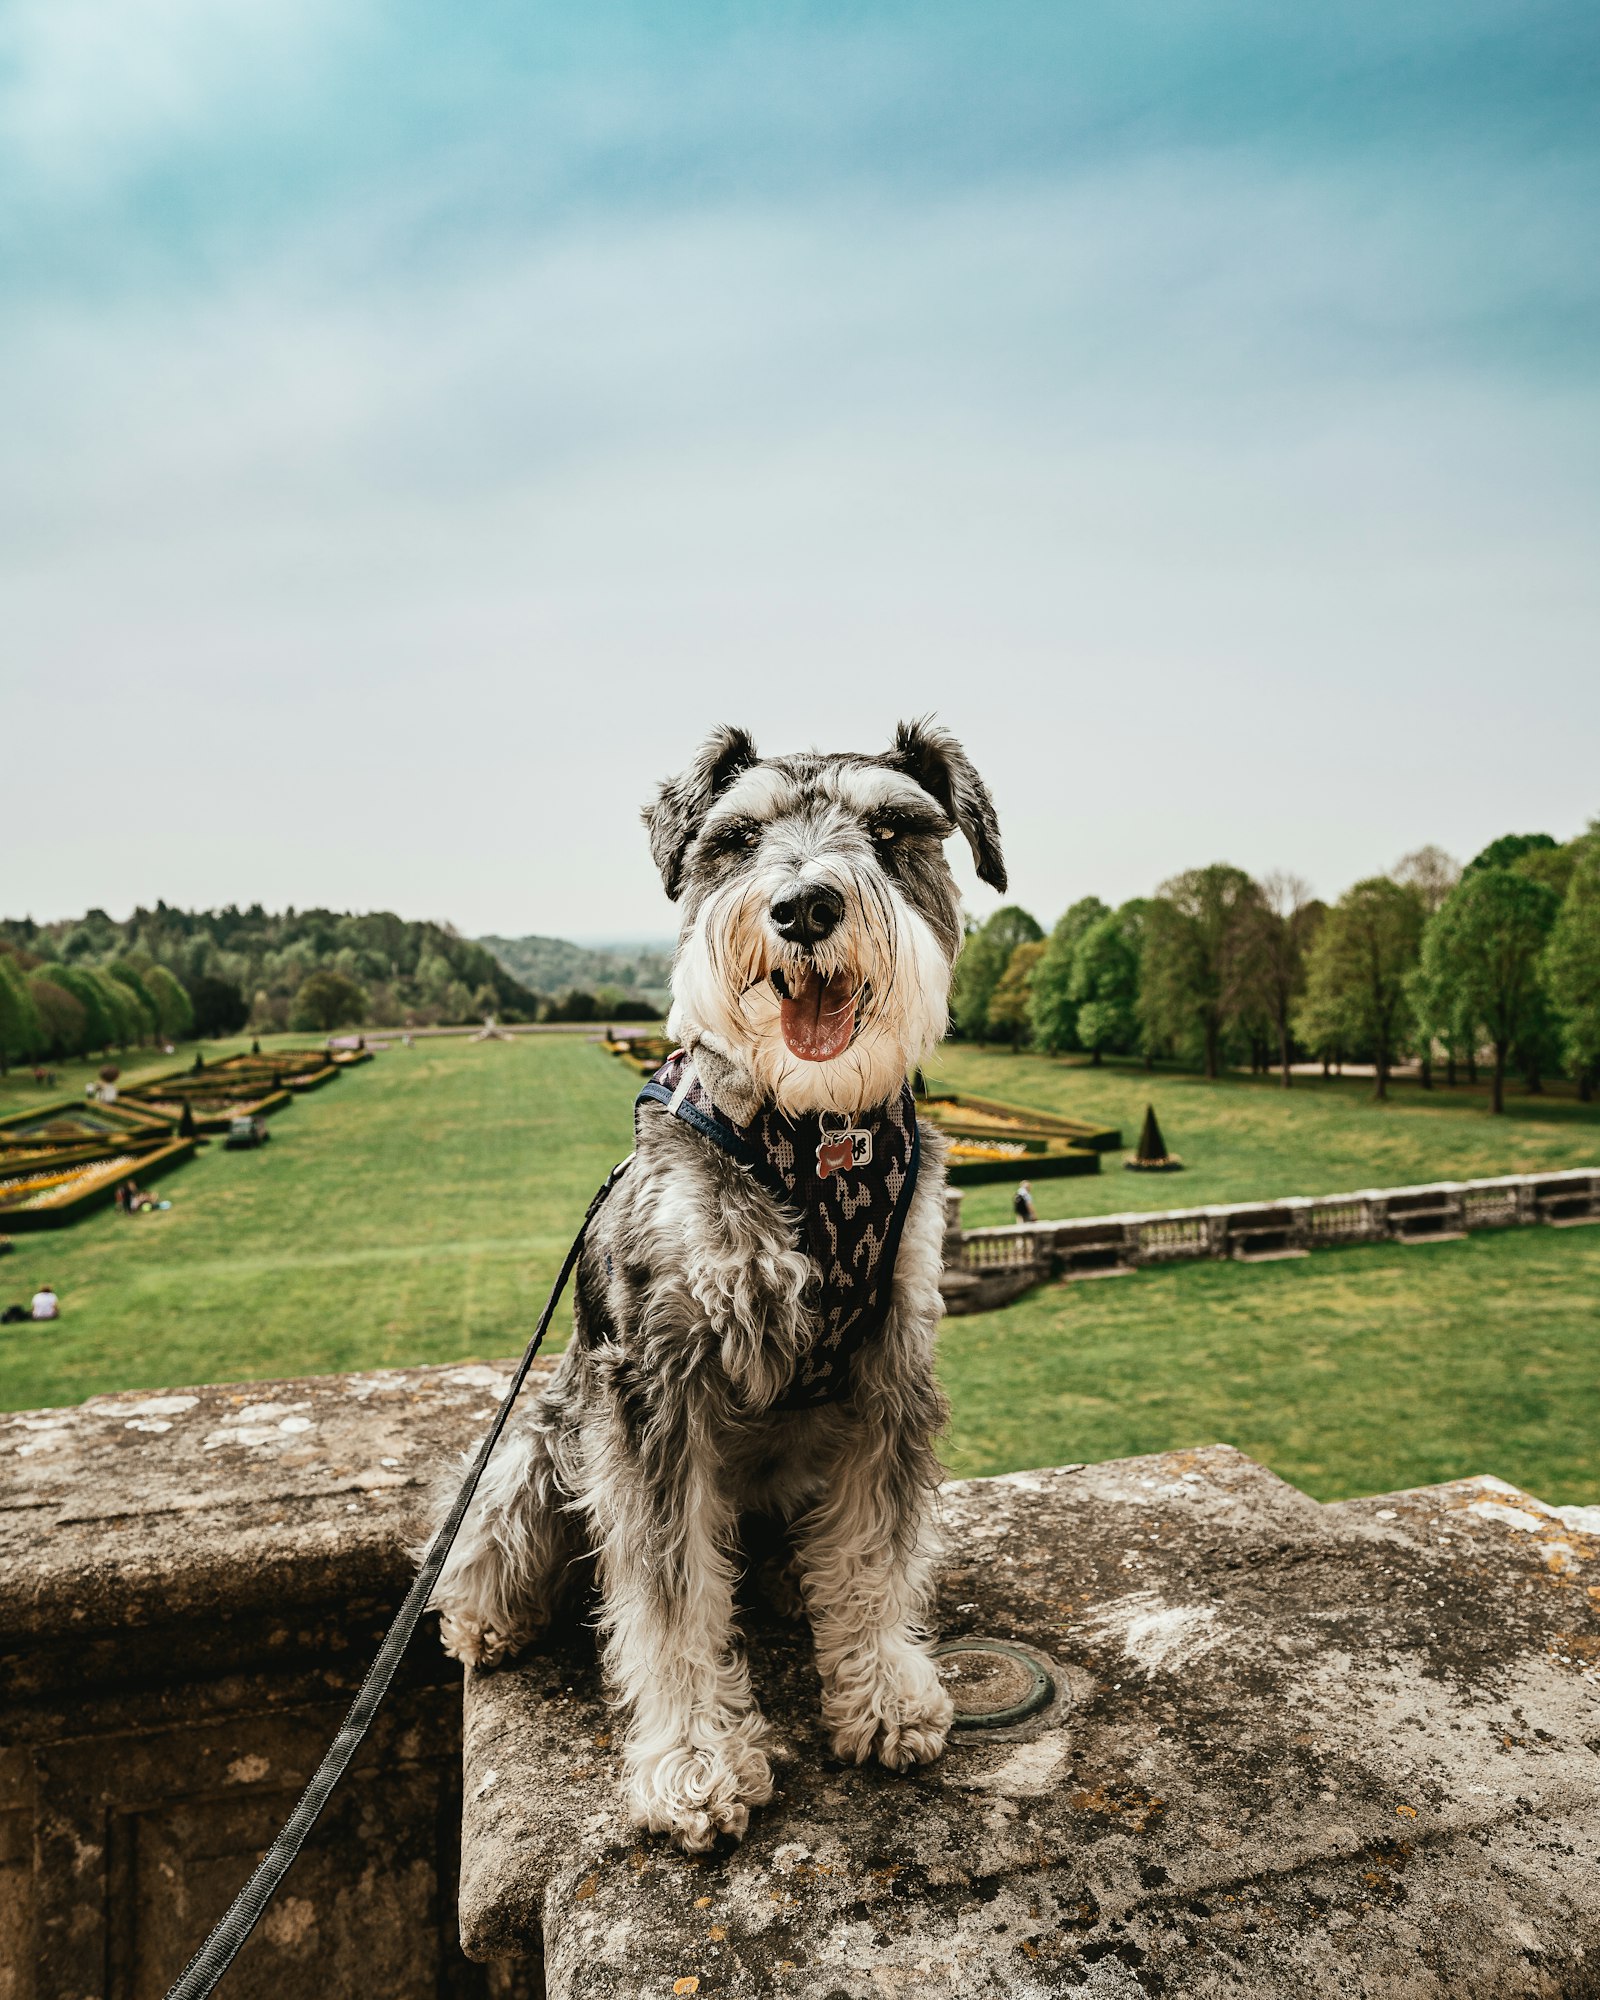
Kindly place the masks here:
MULTIPOLYGON (((602 1458, 608 1454, 602 1454, 602 1458)), ((740 1838, 772 1798, 766 1718, 734 1652, 734 1508, 716 1466, 640 1478, 618 1454, 586 1478, 600 1544, 606 1676, 628 1710, 624 1804, 690 1854, 740 1838)))

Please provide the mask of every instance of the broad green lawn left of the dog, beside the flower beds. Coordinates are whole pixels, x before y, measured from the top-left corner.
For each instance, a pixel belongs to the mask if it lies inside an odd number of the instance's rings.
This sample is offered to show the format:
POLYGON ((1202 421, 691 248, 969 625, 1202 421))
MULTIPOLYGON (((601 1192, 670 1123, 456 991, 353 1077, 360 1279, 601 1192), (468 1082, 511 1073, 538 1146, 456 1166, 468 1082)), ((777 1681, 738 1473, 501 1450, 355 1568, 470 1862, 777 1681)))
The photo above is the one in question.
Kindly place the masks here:
POLYGON ((168 1214, 16 1236, 0 1298, 48 1278, 62 1318, 0 1328, 0 1406, 518 1352, 634 1092, 580 1036, 390 1048, 204 1148, 168 1214))

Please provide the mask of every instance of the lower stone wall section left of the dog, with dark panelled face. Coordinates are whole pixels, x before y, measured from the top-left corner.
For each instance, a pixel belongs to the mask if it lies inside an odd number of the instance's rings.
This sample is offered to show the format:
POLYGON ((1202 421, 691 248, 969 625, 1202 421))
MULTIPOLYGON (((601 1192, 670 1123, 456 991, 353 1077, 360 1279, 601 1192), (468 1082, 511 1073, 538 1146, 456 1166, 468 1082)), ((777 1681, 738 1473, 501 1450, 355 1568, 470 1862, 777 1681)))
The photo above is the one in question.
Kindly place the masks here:
MULTIPOLYGON (((160 2000, 320 1760, 426 1482, 504 1384, 408 1368, 0 1416, 0 2000, 160 2000)), ((528 2000, 536 1974, 460 1952, 458 1842, 460 1668, 424 1632, 224 1992, 528 2000)))

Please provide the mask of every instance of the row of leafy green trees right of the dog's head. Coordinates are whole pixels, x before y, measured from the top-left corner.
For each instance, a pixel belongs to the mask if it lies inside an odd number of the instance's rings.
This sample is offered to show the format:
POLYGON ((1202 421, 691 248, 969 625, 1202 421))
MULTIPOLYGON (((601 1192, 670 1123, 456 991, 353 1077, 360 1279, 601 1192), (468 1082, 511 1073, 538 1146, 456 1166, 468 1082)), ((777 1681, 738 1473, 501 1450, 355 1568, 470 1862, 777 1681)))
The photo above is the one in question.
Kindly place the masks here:
POLYGON ((1530 1090, 1600 1080, 1600 820, 1576 840, 1506 834, 1466 868, 1408 854, 1326 904, 1292 874, 1254 880, 1216 862, 1112 910, 1074 902, 1046 936, 1020 906, 968 932, 954 1032, 976 1042, 1086 1050, 1218 1076, 1320 1058, 1370 1062, 1388 1096, 1398 1062, 1530 1090))

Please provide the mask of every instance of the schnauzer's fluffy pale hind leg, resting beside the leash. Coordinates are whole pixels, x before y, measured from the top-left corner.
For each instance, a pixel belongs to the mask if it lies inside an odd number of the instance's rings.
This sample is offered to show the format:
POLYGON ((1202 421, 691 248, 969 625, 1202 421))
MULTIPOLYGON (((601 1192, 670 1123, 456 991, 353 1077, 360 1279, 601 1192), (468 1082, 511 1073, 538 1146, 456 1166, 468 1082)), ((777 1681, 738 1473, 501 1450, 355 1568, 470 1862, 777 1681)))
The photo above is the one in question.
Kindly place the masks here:
POLYGON ((550 1436, 530 1422, 490 1458, 430 1600, 444 1650, 498 1666, 550 1622, 580 1546, 550 1462, 550 1436))

